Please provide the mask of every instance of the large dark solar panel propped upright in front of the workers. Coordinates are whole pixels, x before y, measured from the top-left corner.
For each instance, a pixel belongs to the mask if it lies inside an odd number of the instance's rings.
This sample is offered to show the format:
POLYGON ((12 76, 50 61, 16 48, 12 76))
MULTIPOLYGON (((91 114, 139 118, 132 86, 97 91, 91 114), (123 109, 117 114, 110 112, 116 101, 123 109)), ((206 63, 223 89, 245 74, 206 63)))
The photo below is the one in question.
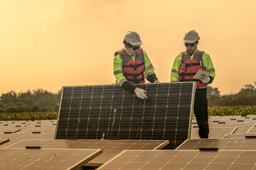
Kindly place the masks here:
POLYGON ((134 84, 142 100, 118 85, 64 86, 55 139, 169 140, 190 136, 194 82, 134 84))

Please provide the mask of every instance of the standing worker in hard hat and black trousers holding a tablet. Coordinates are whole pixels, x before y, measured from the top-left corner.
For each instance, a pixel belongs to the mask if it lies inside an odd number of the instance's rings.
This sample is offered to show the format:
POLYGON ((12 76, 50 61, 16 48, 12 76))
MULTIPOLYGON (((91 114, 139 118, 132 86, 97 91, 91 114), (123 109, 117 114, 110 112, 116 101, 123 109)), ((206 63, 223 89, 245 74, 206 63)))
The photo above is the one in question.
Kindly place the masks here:
POLYGON ((198 50, 199 35, 196 30, 189 30, 183 42, 186 52, 181 52, 174 60, 171 69, 171 82, 178 81, 196 81, 196 94, 194 100, 193 111, 196 115, 198 123, 198 134, 201 138, 208 138, 208 101, 206 98, 207 84, 213 82, 215 77, 215 69, 210 55, 206 52, 198 50), (199 69, 211 71, 210 76, 204 75, 200 79, 193 79, 199 69))

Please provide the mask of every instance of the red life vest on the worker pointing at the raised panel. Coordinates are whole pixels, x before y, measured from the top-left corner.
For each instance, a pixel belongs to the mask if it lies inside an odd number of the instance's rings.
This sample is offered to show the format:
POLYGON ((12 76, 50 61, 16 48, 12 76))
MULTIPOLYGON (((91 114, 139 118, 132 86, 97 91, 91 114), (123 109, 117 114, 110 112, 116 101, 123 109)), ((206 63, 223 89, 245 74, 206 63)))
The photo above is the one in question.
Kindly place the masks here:
POLYGON ((125 79, 127 79, 130 84, 144 84, 145 63, 142 48, 138 50, 135 62, 126 50, 119 50, 115 55, 117 55, 117 53, 122 57, 122 72, 125 79))

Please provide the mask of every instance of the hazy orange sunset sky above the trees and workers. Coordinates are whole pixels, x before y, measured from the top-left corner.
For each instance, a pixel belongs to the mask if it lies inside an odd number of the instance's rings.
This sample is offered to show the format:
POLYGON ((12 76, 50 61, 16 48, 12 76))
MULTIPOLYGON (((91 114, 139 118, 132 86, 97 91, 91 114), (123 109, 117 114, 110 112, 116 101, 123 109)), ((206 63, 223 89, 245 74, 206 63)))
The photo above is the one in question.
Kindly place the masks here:
POLYGON ((0 94, 113 84, 114 52, 129 30, 161 82, 194 29, 213 60, 212 86, 237 93, 256 81, 255 0, 1 0, 0 94))

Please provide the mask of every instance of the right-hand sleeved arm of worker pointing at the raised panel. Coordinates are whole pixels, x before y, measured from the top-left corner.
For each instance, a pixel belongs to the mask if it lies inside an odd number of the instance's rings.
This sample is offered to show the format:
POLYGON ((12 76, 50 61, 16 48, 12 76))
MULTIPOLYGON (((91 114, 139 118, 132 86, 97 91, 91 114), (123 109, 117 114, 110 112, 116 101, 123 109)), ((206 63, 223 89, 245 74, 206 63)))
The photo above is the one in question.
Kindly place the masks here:
POLYGON ((144 77, 151 83, 158 81, 156 74, 154 72, 154 67, 149 60, 149 57, 146 55, 146 52, 143 51, 144 54, 144 62, 145 62, 145 69, 144 69, 144 77))

